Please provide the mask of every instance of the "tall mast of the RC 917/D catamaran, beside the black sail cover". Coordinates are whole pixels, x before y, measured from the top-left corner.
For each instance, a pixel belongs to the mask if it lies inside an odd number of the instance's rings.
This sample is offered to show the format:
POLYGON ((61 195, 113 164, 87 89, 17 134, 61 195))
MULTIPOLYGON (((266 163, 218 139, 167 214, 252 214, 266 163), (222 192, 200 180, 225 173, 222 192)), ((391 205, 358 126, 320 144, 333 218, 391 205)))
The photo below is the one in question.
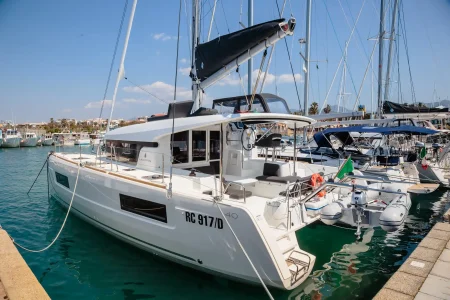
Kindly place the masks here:
POLYGON ((192 78, 192 100, 194 100, 193 110, 196 111, 201 106, 199 81, 197 79, 197 69, 195 68, 195 51, 199 44, 199 26, 200 6, 198 0, 192 1, 192 59, 191 59, 191 78, 192 78))

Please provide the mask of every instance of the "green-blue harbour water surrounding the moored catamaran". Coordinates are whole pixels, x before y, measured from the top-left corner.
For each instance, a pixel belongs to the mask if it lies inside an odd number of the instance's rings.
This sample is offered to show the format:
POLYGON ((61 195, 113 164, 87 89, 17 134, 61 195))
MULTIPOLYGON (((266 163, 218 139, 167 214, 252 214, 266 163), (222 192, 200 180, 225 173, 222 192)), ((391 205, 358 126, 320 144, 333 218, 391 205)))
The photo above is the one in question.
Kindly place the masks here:
MULTIPOLYGON (((47 199, 45 168, 27 196, 51 147, 0 149, 0 224, 24 246, 51 242, 65 217, 47 199)), ((84 148, 83 151, 89 151, 84 148)), ((78 148, 65 151, 78 152, 78 148)), ((415 197, 405 228, 386 234, 313 224, 297 233, 302 249, 317 256, 310 278, 276 299, 370 299, 450 207, 443 191, 415 197)), ((267 299, 261 286, 220 279, 129 246, 69 216, 59 240, 39 254, 21 251, 53 299, 267 299)))

